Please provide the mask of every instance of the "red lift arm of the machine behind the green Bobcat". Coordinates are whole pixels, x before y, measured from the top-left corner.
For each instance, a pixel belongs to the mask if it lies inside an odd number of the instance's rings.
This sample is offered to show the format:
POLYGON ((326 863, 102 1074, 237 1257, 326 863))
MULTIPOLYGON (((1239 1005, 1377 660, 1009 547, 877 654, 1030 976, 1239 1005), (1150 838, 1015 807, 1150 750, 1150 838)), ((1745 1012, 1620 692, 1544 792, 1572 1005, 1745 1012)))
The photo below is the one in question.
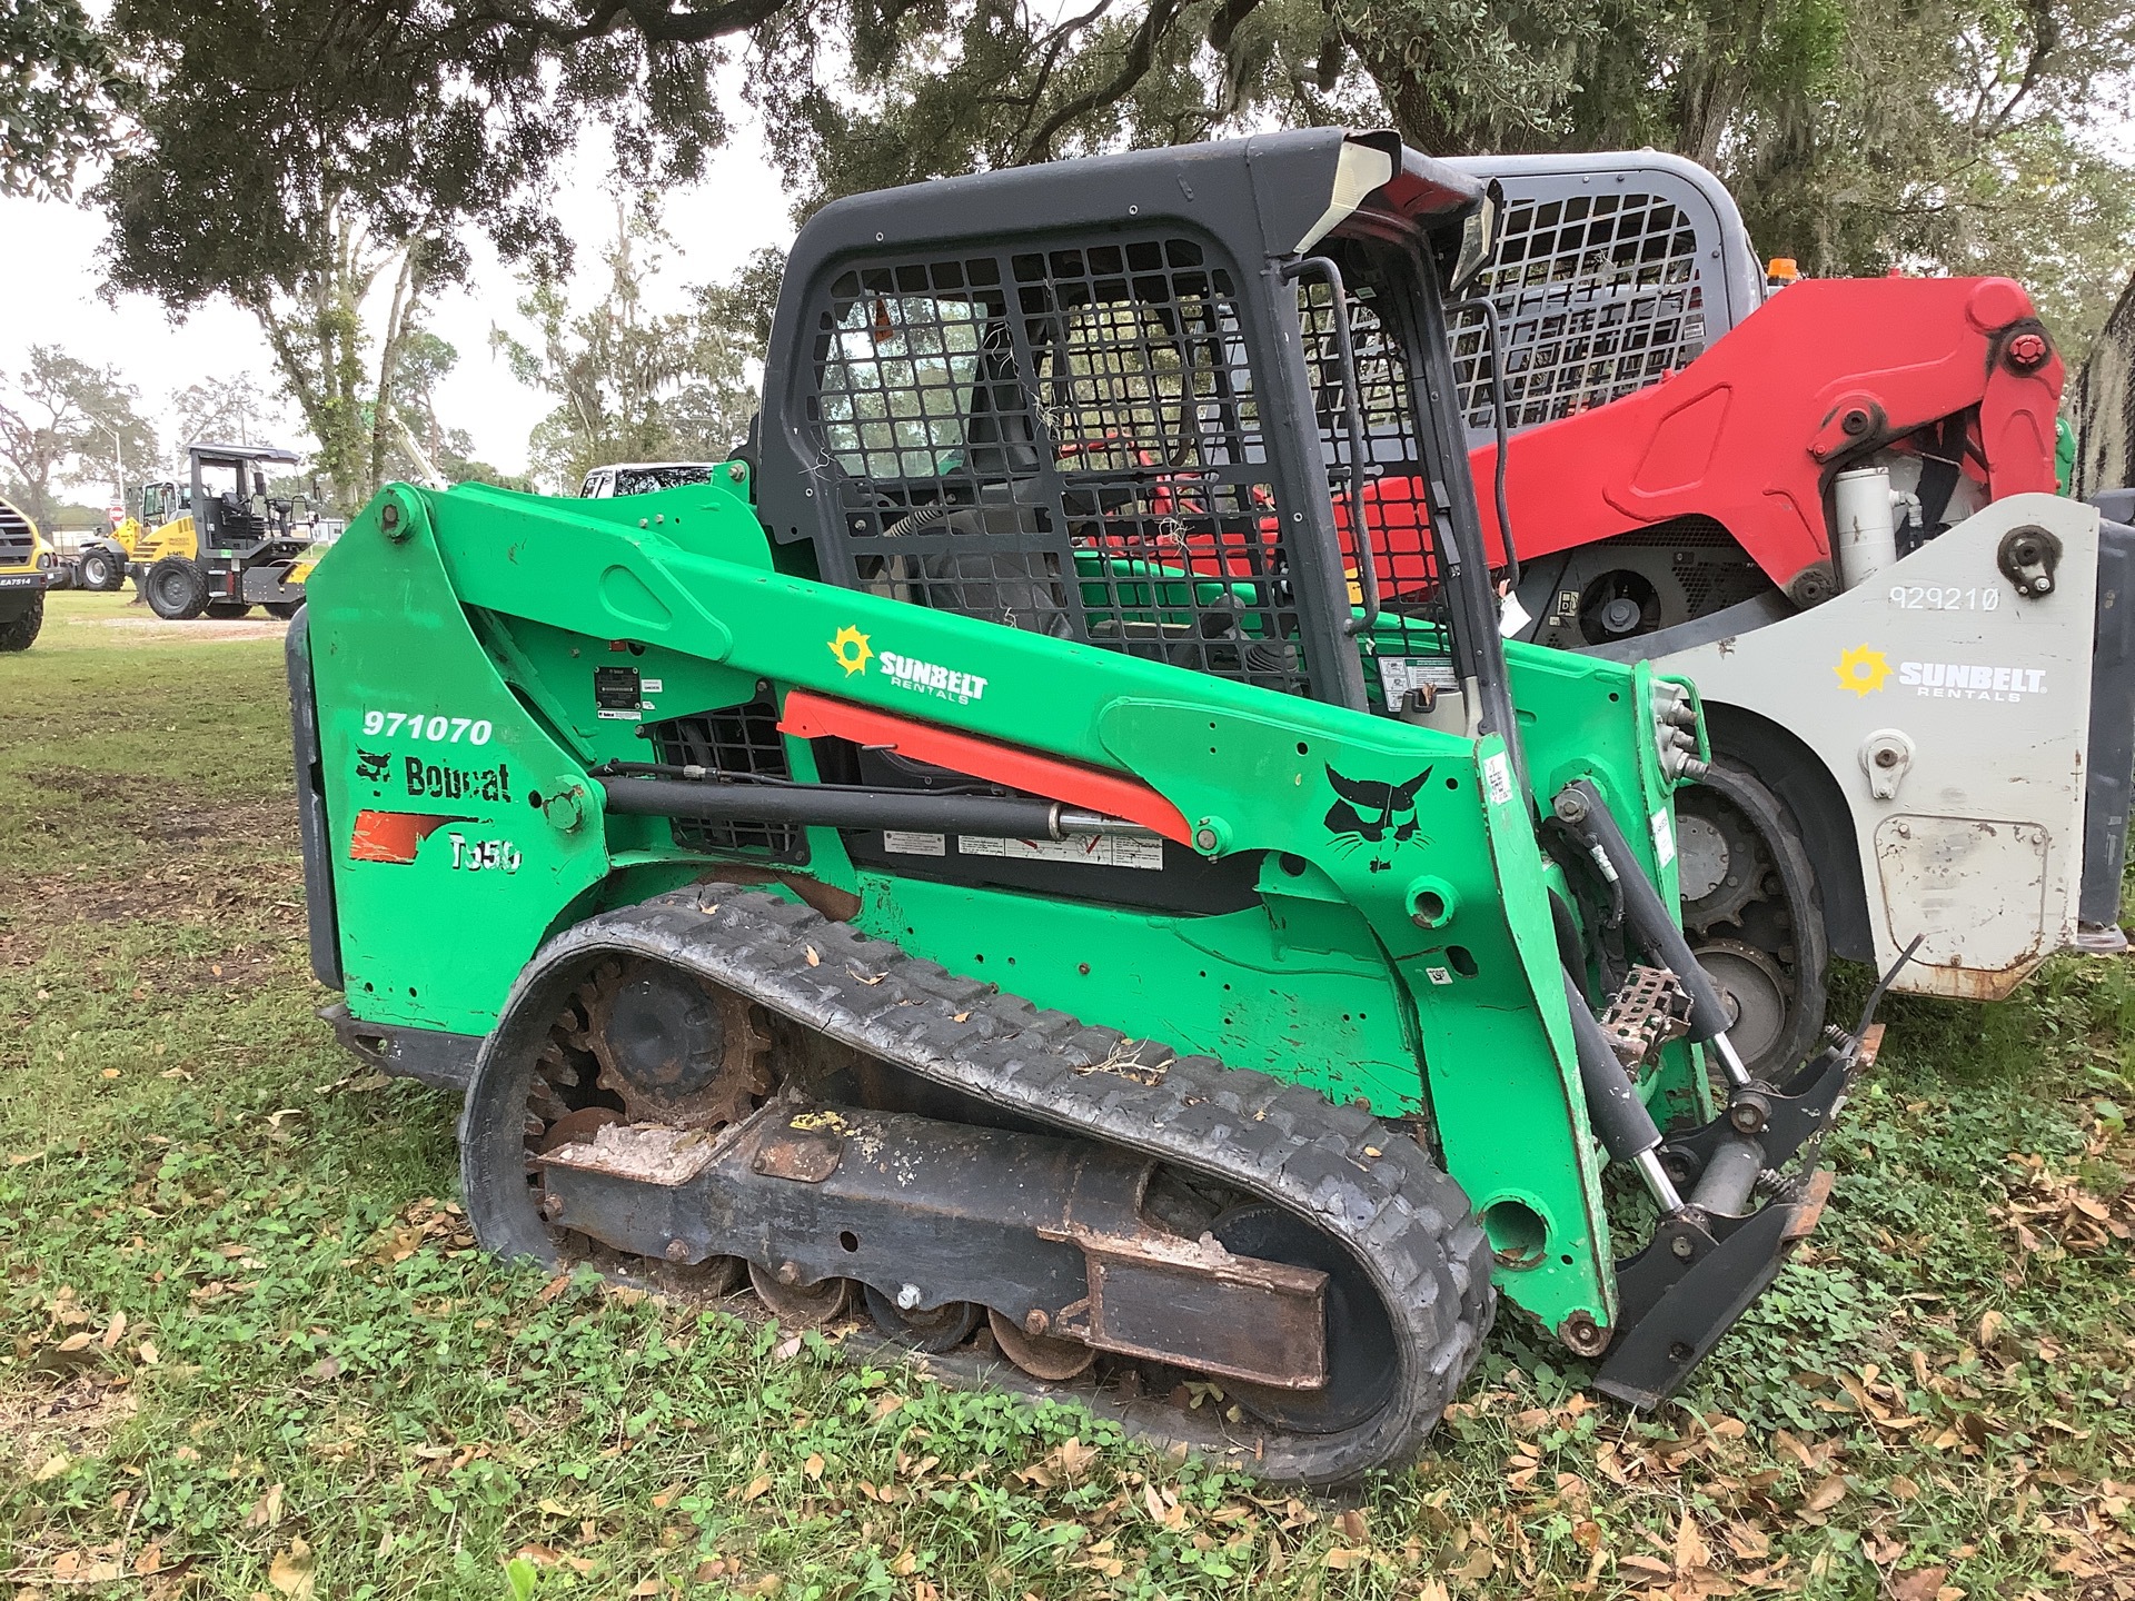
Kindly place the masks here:
MULTIPOLYGON (((1650 389, 1516 433, 1514 540, 1527 564, 1644 529, 1706 544, 1717 525, 1810 606, 1838 587, 1830 485, 1843 467, 1889 467, 1919 502, 1915 540, 1990 500, 2052 493, 2060 384, 2060 356, 2007 278, 1804 280, 1650 389)), ((1497 446, 1471 463, 1490 485, 1497 446)), ((1494 542, 1488 495, 1484 523, 1494 542)), ((1635 632, 1710 608, 1687 596, 1635 632)))

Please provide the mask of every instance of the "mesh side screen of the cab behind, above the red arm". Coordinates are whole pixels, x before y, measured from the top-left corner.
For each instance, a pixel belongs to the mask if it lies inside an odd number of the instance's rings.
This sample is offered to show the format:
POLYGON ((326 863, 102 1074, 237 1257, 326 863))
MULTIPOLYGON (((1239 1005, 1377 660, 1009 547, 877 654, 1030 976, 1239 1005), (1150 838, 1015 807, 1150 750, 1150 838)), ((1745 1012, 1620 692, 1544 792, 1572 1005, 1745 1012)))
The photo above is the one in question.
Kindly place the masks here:
MULTIPOLYGON (((1469 288, 1497 307, 1509 427, 1606 406, 1704 354, 1704 256, 1697 226, 1659 194, 1512 199, 1469 288)), ((1462 421, 1490 429, 1482 314, 1454 314, 1452 342, 1462 421)))

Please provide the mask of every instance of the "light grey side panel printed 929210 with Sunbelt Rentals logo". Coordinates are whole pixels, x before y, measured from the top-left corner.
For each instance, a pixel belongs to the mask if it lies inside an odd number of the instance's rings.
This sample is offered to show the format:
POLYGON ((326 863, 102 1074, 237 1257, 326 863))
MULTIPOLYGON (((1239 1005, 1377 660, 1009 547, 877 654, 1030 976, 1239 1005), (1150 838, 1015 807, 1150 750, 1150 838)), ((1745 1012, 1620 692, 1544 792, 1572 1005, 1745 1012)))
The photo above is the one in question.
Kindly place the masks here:
POLYGON ((2097 529, 2088 506, 2013 495, 1813 611, 1657 662, 1830 768, 1877 965, 1926 935, 1902 990, 1996 999, 2075 935, 2097 529), (2060 540, 2050 596, 1996 568, 2015 527, 2060 540))

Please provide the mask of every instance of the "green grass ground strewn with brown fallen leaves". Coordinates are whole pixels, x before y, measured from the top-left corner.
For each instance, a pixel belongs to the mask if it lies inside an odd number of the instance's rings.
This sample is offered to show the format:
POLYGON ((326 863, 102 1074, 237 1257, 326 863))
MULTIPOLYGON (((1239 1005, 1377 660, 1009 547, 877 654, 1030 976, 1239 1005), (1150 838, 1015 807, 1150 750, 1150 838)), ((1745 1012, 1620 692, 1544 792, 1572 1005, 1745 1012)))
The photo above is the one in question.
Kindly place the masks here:
POLYGON ((312 1016, 278 645, 126 615, 0 662, 15 1597, 2135 1588, 2124 967, 1892 1005, 1821 1232, 1680 1405, 1507 1317, 1435 1456, 1294 1499, 474 1253, 453 1108, 312 1016))

